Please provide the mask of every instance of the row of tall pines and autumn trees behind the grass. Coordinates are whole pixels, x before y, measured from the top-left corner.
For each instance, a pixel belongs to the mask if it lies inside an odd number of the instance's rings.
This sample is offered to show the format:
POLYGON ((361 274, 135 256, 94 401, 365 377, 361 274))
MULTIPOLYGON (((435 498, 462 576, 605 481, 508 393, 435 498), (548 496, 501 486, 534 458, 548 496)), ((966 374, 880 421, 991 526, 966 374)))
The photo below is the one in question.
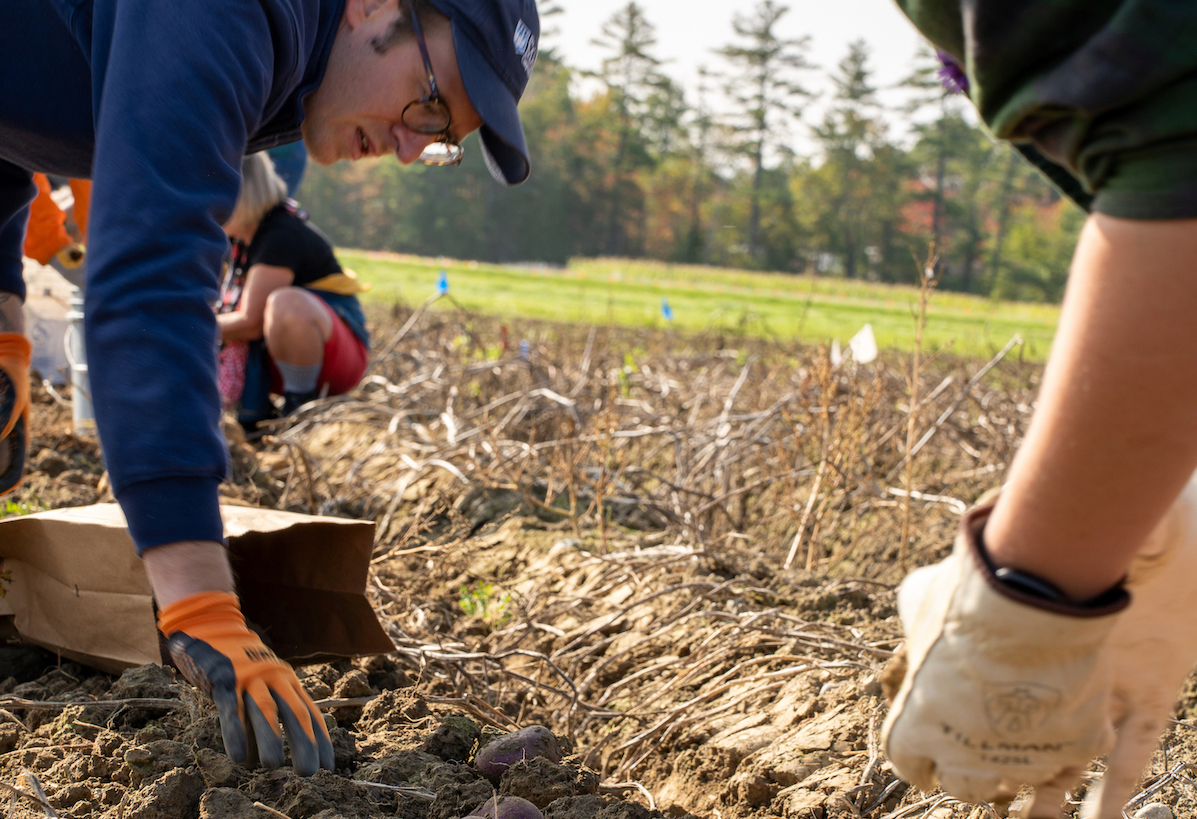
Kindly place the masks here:
POLYGON ((1083 213, 971 122, 935 56, 916 57, 894 109, 853 43, 808 122, 818 69, 808 38, 778 35, 785 13, 762 0, 736 14, 721 71, 687 93, 630 2, 596 40, 600 92, 579 96, 582 72, 542 49, 521 104, 523 186, 494 184, 475 142, 455 169, 314 169, 305 205, 341 245, 488 261, 648 256, 912 281, 934 242, 943 286, 1057 299, 1083 213))

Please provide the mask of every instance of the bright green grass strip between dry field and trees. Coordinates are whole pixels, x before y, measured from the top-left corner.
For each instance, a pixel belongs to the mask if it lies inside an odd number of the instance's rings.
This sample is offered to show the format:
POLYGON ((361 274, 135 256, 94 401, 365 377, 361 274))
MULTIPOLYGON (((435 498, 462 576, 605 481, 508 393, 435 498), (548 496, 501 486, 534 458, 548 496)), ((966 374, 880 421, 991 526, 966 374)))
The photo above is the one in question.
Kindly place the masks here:
MULTIPOLYGON (((436 292, 444 269, 449 293, 464 308, 490 315, 813 342, 838 338, 841 344, 871 323, 881 347, 909 350, 915 340, 918 291, 911 286, 627 259, 575 260, 552 269, 364 250, 338 255, 372 285, 365 298, 375 303, 419 304, 436 292), (662 315, 662 299, 673 309, 673 322, 662 315)), ((1017 333, 1026 342, 1023 358, 1043 360, 1058 316, 1051 304, 934 292, 925 344, 989 356, 1017 333)))

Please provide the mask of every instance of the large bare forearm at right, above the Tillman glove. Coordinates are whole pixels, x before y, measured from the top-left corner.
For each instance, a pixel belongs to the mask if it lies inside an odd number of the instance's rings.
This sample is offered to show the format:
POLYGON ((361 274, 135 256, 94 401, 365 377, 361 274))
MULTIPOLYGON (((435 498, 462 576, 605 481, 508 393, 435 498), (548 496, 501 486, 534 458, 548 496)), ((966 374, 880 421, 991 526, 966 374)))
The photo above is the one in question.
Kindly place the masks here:
POLYGON ((985 528, 1077 600, 1118 582, 1197 466, 1197 219, 1089 218, 1039 407, 985 528))

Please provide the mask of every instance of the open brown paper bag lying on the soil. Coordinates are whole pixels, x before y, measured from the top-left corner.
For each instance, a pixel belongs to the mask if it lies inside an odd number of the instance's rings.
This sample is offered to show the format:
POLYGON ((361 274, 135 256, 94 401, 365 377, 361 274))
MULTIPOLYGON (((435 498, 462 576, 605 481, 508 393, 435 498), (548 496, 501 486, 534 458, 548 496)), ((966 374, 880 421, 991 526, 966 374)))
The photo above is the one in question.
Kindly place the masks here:
MULTIPOLYGON (((220 510, 242 611, 280 657, 394 650, 365 596, 372 522, 220 510)), ((150 581, 116 504, 0 520, 0 590, 24 642, 111 673, 160 661, 150 581)))

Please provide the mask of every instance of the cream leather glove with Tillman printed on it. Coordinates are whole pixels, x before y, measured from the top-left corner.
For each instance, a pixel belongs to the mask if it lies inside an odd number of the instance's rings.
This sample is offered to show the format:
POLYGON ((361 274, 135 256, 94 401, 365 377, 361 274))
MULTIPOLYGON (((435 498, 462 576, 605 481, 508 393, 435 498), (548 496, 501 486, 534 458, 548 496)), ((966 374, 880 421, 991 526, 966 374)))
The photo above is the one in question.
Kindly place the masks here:
POLYGON ((1029 576, 998 581, 978 545, 991 510, 968 512, 952 556, 898 590, 907 666, 882 747, 922 790, 938 781, 991 802, 1027 784, 1062 797, 1113 746, 1110 637, 1129 597, 1118 587, 1076 606, 1029 576))

